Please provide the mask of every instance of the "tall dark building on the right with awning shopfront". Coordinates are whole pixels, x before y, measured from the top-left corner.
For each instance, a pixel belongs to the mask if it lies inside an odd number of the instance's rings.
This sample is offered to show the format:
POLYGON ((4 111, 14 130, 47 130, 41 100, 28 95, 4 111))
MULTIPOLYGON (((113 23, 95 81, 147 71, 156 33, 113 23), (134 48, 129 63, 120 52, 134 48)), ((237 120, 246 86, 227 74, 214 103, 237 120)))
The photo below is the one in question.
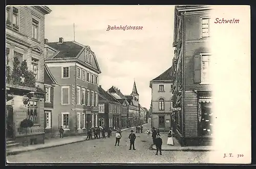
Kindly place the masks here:
POLYGON ((172 77, 175 132, 182 146, 211 143, 208 6, 176 6, 172 77))

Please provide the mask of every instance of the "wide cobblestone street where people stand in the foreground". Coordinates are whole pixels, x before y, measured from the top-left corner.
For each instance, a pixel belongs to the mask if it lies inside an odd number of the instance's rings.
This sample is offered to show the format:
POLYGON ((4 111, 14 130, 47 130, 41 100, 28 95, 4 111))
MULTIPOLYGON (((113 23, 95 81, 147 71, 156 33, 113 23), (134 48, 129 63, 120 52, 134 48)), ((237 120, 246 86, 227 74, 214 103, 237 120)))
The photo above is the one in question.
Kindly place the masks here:
MULTIPOLYGON (((144 131, 150 124, 144 126, 144 131)), ((11 163, 207 163, 209 152, 163 151, 162 156, 150 150, 151 135, 136 133, 135 148, 129 150, 129 133, 122 132, 119 147, 115 147, 115 133, 111 138, 93 139, 44 150, 7 156, 11 163)))

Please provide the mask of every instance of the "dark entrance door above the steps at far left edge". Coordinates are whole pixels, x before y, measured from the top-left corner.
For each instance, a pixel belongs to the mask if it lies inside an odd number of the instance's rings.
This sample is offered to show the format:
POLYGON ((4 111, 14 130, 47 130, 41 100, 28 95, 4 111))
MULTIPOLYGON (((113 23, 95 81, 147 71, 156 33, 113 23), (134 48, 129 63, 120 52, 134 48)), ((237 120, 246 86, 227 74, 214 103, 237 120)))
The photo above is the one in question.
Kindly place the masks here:
POLYGON ((7 137, 12 138, 14 136, 14 131, 13 131, 13 108, 8 106, 6 107, 6 129, 7 129, 7 137))

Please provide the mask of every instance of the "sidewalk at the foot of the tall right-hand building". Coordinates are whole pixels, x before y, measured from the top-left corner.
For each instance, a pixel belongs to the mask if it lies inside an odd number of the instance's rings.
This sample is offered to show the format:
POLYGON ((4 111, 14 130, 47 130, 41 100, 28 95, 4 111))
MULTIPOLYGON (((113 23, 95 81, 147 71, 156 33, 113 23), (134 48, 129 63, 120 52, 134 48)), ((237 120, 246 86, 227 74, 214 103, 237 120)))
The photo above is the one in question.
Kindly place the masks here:
MULTIPOLYGON (((174 138, 174 146, 167 145, 167 133, 160 133, 163 140, 162 151, 214 151, 211 146, 187 146, 181 147, 178 140, 174 138)), ((151 149, 156 150, 156 145, 151 146, 151 149)))

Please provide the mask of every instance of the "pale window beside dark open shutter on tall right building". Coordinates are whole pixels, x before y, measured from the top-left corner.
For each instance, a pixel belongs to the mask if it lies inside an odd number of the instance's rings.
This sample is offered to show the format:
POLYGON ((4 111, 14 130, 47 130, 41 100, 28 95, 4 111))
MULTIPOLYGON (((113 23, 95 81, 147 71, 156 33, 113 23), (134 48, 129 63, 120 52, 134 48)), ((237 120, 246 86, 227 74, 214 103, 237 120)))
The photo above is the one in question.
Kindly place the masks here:
POLYGON ((202 67, 201 67, 201 82, 208 83, 209 82, 209 55, 202 55, 202 67))

